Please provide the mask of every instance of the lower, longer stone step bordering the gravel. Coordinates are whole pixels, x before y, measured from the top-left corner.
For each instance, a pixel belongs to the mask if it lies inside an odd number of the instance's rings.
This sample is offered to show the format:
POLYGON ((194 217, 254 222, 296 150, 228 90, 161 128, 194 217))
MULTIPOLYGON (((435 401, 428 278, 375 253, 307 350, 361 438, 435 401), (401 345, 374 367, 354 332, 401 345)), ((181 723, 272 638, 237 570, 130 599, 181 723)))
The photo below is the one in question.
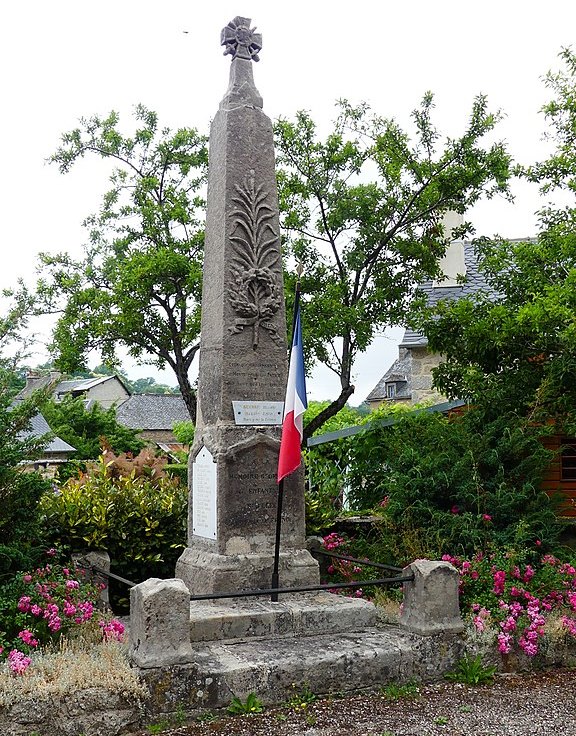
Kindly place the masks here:
POLYGON ((156 699, 170 692, 187 708, 223 708, 250 693, 278 704, 308 687, 316 695, 374 689, 391 682, 433 681, 461 657, 459 636, 422 637, 398 627, 193 645, 193 662, 140 670, 156 699))

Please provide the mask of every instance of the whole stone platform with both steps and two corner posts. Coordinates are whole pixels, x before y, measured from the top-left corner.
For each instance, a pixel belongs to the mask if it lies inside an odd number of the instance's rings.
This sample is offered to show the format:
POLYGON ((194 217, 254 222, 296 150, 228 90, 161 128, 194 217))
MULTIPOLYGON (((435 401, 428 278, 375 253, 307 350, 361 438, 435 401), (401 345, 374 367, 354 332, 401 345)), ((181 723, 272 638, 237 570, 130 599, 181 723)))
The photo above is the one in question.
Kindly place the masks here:
POLYGON ((182 580, 132 588, 130 647, 155 712, 223 708, 250 693, 281 703, 439 679, 463 652, 459 576, 447 562, 404 570, 398 626, 368 601, 318 591, 267 599, 191 601, 182 580))

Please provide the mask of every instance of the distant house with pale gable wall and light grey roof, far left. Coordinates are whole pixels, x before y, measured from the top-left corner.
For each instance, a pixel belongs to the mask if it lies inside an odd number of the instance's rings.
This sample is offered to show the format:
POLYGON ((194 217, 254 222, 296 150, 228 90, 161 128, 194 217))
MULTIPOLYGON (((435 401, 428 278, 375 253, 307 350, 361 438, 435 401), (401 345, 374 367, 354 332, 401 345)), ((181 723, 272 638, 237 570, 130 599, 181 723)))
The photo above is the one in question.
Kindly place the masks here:
POLYGON ((26 376, 26 385, 18 397, 25 398, 34 391, 50 385, 52 385, 52 396, 55 401, 62 401, 66 396, 82 397, 86 408, 89 408, 93 402, 97 402, 103 409, 109 409, 111 406, 120 406, 130 397, 130 391, 118 376, 73 378, 63 381, 61 374, 55 371, 45 376, 29 373, 26 376))

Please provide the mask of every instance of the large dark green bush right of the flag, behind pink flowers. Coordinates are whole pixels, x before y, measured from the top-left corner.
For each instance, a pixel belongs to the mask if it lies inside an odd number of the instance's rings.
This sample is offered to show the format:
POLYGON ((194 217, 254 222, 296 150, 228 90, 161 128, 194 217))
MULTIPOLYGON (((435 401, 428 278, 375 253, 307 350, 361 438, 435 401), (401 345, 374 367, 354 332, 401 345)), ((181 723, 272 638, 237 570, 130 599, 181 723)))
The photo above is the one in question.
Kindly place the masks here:
POLYGON ((424 411, 330 444, 346 463, 352 508, 380 518, 364 546, 403 563, 536 540, 554 549, 562 527, 541 490, 546 431, 486 408, 424 411))

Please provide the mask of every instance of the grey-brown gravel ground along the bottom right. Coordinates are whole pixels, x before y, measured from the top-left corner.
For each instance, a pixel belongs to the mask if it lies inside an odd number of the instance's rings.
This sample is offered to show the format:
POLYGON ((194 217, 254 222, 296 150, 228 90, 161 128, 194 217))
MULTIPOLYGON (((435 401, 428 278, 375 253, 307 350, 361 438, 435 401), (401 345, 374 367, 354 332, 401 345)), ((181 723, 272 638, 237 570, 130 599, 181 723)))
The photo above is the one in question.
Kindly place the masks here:
MULTIPOLYGON (((576 736, 576 672, 499 675, 494 684, 426 685, 413 697, 318 700, 167 728, 163 736, 576 736)), ((313 689, 313 687, 312 687, 313 689)), ((210 718, 211 714, 205 714, 210 718)), ((149 736, 151 729, 138 736, 149 736)))

